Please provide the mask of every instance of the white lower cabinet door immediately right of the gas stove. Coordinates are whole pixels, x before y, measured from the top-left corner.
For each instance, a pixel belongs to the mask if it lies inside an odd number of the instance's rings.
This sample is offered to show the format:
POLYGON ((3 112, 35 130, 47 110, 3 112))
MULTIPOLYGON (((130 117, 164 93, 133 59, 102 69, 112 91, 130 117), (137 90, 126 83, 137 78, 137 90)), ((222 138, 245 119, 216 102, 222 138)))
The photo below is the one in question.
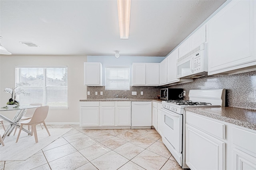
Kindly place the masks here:
POLYGON ((186 164, 193 170, 224 170, 225 143, 186 124, 186 164))

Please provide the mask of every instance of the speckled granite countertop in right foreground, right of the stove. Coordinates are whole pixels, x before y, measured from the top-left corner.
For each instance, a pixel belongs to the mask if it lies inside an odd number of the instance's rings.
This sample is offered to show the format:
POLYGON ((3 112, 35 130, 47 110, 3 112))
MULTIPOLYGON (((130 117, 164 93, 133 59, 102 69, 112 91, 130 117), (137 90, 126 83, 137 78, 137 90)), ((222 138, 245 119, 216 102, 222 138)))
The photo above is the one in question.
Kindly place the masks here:
POLYGON ((186 107, 185 110, 256 130, 256 110, 236 107, 186 107))

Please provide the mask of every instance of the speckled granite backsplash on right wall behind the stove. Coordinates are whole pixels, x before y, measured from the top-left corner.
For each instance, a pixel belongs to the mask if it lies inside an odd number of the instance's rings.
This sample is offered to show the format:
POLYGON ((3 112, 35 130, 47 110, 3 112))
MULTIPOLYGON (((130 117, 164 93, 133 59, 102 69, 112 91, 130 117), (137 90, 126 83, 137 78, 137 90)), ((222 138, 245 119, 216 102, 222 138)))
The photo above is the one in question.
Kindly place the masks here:
POLYGON ((191 89, 226 89, 226 106, 256 110, 256 71, 210 76, 195 79, 194 82, 178 84, 169 88, 184 88, 185 99, 191 89))

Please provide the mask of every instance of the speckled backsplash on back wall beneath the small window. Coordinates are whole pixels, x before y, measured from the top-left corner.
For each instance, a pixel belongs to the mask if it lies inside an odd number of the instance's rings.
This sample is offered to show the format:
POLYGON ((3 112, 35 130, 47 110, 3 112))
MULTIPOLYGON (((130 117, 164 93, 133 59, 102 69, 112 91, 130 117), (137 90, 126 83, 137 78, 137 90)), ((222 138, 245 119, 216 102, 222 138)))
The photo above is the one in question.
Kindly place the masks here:
POLYGON ((106 99, 106 98, 116 98, 114 94, 118 94, 118 98, 133 98, 133 99, 156 99, 157 95, 160 95, 160 88, 162 87, 135 87, 130 86, 130 90, 105 90, 105 86, 102 87, 89 87, 87 86, 87 92, 90 92, 90 95, 87 95, 87 99, 106 99), (98 92, 98 95, 95 95, 95 92, 98 92), (100 95, 100 92, 103 92, 103 95, 100 95), (137 95, 132 95, 132 92, 137 92, 137 95), (141 95, 140 92, 143 92, 141 95))

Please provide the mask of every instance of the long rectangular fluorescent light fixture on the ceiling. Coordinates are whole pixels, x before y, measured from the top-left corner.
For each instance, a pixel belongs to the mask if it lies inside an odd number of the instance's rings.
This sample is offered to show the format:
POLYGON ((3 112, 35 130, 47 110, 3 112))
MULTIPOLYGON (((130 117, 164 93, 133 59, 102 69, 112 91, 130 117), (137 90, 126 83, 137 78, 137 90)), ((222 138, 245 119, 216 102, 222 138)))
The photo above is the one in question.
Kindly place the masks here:
POLYGON ((131 0, 117 0, 120 39, 129 38, 131 0))

